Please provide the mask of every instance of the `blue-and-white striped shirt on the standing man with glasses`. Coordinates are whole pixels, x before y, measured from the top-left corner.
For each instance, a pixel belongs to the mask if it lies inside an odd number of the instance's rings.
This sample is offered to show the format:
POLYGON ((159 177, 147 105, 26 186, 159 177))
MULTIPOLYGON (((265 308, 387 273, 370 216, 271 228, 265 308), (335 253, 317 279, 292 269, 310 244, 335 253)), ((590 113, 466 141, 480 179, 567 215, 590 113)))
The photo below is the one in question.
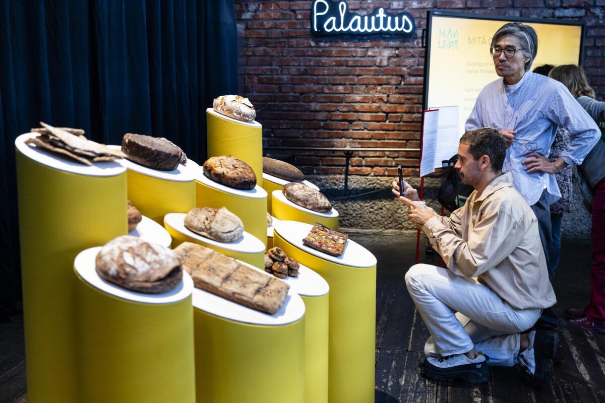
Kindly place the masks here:
POLYGON ((555 175, 528 173, 521 161, 536 151, 548 155, 557 127, 569 132, 569 147, 561 152, 567 164, 580 165, 601 137, 597 124, 560 82, 527 71, 515 85, 505 85, 500 78, 489 83, 477 97, 473 112, 466 120, 467 131, 479 127, 517 131, 506 149, 502 172, 511 172, 515 189, 529 205, 548 190, 548 201, 561 197, 555 175))

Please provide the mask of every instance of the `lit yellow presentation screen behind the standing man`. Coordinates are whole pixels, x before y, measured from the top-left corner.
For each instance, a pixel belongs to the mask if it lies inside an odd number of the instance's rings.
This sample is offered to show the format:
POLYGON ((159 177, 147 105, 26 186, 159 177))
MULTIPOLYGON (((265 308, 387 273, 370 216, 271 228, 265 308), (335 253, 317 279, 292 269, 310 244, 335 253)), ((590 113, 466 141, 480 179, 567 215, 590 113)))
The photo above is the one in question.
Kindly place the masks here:
MULTIPOLYGON (((483 87, 498 79, 489 45, 508 21, 433 16, 428 57, 427 107, 459 107, 459 135, 483 87)), ((531 68, 543 64, 577 64, 582 28, 526 22, 538 35, 538 53, 531 68)))

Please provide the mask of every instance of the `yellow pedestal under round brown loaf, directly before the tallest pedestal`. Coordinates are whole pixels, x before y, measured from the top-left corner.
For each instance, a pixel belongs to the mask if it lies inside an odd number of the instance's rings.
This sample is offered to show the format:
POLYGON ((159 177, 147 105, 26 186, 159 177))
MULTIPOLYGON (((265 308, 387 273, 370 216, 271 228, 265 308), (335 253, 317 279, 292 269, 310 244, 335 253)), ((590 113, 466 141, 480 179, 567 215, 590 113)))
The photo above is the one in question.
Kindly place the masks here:
POLYGON ((195 207, 226 207, 244 223, 244 230, 267 243, 267 192, 232 189, 206 178, 203 169, 195 178, 195 207))

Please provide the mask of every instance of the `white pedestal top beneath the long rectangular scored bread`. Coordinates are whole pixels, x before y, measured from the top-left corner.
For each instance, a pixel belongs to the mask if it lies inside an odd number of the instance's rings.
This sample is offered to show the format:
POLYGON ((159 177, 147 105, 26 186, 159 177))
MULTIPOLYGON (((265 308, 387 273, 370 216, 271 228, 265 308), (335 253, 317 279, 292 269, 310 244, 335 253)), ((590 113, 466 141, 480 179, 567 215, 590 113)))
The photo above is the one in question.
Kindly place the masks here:
MULTIPOLYGON (((238 260, 240 262, 240 260, 238 260)), ((257 269, 247 263, 240 262, 250 268, 263 273, 265 276, 271 276, 266 272, 257 269)), ((272 277, 272 276, 271 276, 272 277)), ((241 323, 257 324, 261 326, 280 326, 293 323, 304 315, 305 306, 302 298, 290 286, 286 301, 279 311, 274 315, 265 314, 256 309, 248 308, 234 301, 227 300, 208 291, 194 288, 193 306, 200 311, 241 323)))

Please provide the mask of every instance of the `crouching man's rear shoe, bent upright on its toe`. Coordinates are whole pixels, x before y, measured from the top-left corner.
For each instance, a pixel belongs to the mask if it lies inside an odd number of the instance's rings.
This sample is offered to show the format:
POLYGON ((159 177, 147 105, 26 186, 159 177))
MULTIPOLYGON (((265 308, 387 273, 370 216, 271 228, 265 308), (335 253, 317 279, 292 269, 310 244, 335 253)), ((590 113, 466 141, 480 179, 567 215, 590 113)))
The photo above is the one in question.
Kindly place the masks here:
POLYGON ((529 347, 518 355, 519 364, 525 368, 523 381, 531 387, 543 385, 552 373, 552 358, 558 344, 558 334, 553 330, 529 332, 529 347))

